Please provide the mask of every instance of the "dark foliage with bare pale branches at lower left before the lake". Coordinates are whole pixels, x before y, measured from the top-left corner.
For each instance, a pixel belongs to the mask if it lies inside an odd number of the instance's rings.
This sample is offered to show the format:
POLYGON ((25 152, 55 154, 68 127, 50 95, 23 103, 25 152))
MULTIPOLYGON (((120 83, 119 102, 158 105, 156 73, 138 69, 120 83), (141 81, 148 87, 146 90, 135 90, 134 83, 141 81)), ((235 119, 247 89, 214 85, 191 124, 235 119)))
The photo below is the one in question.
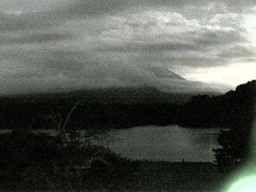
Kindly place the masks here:
POLYGON ((0 184, 3 188, 22 186, 30 189, 82 188, 107 184, 116 174, 129 170, 128 160, 101 146, 90 145, 90 138, 105 134, 104 130, 80 128, 68 124, 70 110, 63 120, 48 116, 56 123, 56 135, 17 128, 0 134, 0 184), (128 169, 127 169, 128 168, 128 169), (125 170, 125 171, 124 171, 125 170))

